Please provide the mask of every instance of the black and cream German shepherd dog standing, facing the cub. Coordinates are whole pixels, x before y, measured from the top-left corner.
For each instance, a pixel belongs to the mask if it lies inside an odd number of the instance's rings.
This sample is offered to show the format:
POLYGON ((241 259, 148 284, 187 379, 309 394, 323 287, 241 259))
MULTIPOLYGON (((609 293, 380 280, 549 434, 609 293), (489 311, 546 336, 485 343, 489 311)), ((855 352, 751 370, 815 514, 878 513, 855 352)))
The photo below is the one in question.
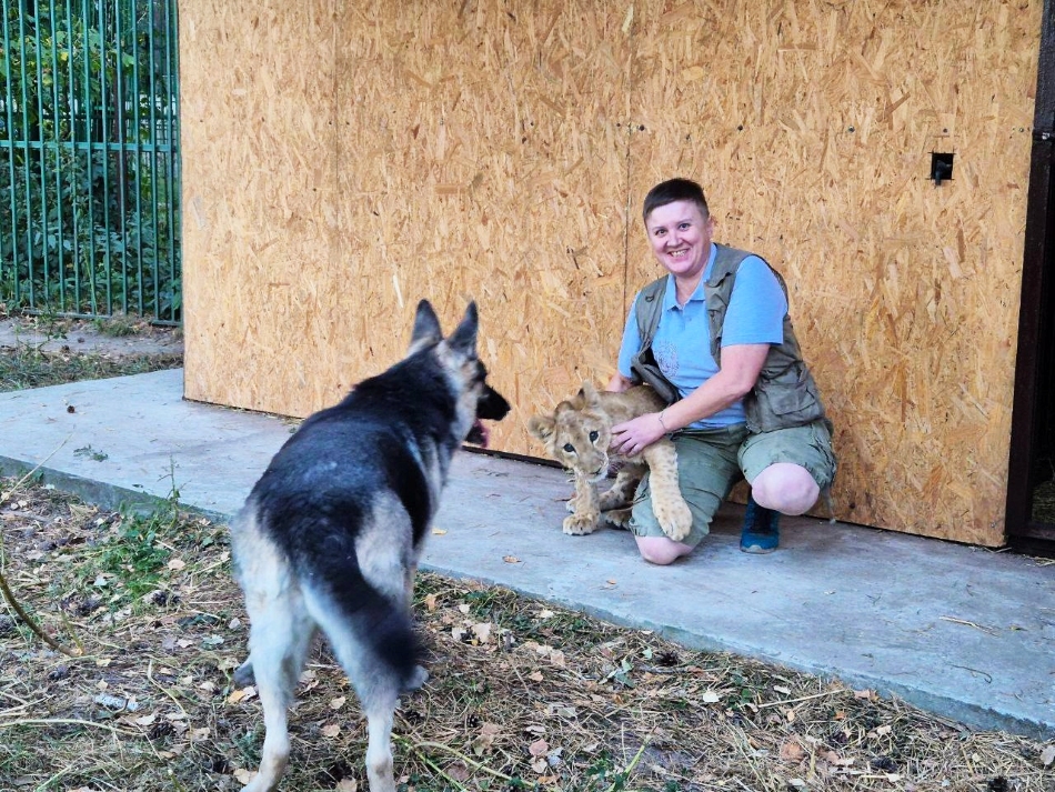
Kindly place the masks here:
POLYGON ((429 675, 411 615, 419 554, 454 451, 485 445, 480 419, 510 409, 485 381, 476 327, 470 303, 444 339, 422 300, 406 357, 308 418, 232 521, 250 619, 235 680, 255 678, 267 731, 247 792, 274 790, 285 770, 287 709, 318 630, 366 715, 370 792, 395 792, 396 699, 429 675))

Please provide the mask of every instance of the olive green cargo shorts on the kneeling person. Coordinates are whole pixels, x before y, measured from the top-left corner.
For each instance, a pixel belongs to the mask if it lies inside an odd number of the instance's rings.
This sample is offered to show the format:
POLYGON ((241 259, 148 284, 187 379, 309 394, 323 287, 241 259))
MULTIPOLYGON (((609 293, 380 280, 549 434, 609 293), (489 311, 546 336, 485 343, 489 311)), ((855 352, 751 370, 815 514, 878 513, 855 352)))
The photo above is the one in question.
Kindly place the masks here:
MULTIPOLYGON (((692 511, 692 531, 682 540, 690 547, 710 533, 711 520, 742 477, 754 481, 771 464, 791 462, 808 470, 822 491, 835 479, 832 433, 824 420, 758 434, 743 423, 681 430, 672 440, 677 449, 679 485, 692 511)), ((647 475, 637 487, 630 530, 637 537, 665 535, 652 512, 647 475)))

